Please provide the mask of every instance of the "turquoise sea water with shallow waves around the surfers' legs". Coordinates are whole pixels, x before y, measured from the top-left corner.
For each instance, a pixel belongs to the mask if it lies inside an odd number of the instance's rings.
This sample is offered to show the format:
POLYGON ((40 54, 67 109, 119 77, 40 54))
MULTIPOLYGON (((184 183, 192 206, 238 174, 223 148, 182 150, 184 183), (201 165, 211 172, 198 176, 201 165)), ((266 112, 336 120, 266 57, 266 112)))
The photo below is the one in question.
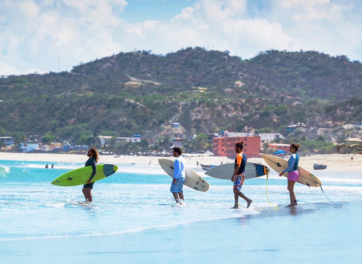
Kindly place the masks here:
POLYGON ((82 186, 50 184, 84 164, 45 164, 0 161, 0 263, 362 263, 361 172, 313 171, 342 206, 297 183, 303 202, 284 208, 287 181, 272 171, 268 198, 281 208, 268 202, 263 176, 244 182, 251 208, 230 209, 231 181, 200 167, 190 166, 210 190, 184 187, 187 205, 174 204, 172 179, 158 164, 119 165, 84 205, 82 186))

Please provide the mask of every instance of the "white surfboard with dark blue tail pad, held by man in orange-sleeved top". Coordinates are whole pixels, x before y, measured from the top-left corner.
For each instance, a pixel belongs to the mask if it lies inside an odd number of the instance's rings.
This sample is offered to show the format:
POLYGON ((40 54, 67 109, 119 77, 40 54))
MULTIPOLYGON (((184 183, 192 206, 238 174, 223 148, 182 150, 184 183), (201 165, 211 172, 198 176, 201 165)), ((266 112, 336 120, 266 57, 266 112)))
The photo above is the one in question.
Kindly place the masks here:
MULTIPOLYGON (((230 180, 234 171, 235 163, 225 163, 212 167, 207 170, 205 174, 218 179, 230 180)), ((252 162, 247 162, 245 164, 245 179, 257 178, 267 173, 269 173, 269 168, 267 166, 252 162)))

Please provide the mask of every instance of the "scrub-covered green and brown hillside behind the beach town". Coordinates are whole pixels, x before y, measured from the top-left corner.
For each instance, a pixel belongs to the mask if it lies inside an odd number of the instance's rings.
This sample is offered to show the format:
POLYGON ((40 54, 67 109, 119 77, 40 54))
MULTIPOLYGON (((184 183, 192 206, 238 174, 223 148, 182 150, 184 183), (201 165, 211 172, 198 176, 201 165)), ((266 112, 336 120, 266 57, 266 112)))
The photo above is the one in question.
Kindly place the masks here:
POLYGON ((0 89, 0 136, 49 132, 78 144, 100 133, 285 134, 286 125, 298 122, 305 124, 298 136, 315 139, 323 128, 333 141, 344 133, 333 129, 362 122, 361 63, 316 51, 269 50, 250 60, 199 47, 166 55, 121 52, 71 72, 3 76, 0 89), (169 129, 173 122, 182 128, 169 129))

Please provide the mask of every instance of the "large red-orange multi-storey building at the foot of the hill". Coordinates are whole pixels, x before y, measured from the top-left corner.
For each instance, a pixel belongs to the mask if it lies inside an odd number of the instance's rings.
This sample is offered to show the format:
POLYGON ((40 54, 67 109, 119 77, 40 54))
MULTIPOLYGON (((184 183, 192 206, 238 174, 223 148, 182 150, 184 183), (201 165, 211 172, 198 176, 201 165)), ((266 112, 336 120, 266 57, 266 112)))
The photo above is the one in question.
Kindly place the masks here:
POLYGON ((240 141, 244 142, 243 152, 248 158, 261 157, 260 137, 256 136, 214 137, 212 138, 212 153, 218 157, 236 157, 235 144, 240 141))

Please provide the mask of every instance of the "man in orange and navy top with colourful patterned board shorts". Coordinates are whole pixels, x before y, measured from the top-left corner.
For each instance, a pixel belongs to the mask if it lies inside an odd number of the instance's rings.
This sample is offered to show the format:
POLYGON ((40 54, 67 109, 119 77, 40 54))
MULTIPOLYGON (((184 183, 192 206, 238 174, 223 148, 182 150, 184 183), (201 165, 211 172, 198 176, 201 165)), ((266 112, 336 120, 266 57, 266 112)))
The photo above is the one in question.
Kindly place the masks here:
POLYGON ((243 153, 244 142, 238 142, 235 144, 235 153, 237 156, 235 158, 235 170, 232 174, 231 181, 233 184, 235 205, 233 208, 239 208, 239 196, 247 201, 247 208, 253 202, 251 199, 246 197, 242 192, 240 192, 241 187, 243 186, 245 180, 245 164, 247 163, 247 156, 243 153))

